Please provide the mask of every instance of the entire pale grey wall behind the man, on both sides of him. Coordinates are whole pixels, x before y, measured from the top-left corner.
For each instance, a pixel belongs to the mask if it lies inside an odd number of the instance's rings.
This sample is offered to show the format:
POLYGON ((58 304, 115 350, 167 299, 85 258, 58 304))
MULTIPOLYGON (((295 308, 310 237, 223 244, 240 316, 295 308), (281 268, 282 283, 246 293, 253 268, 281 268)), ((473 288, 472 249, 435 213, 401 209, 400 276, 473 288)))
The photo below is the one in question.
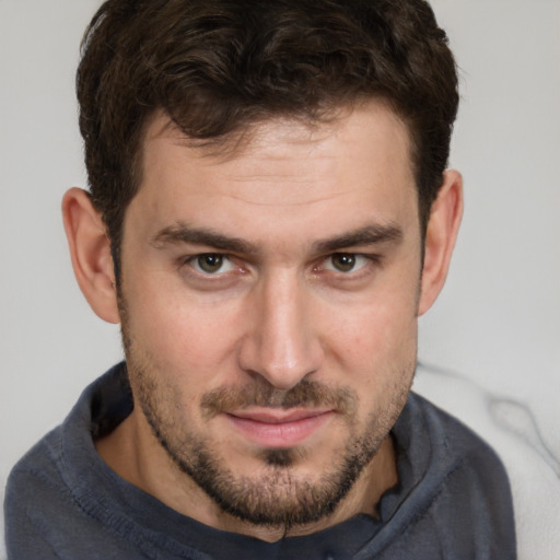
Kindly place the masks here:
MULTIPOLYGON (((460 67, 466 213, 420 359, 528 404, 558 457, 560 1, 432 3, 460 67)), ((0 488, 121 355, 75 285, 59 210, 85 186, 73 79, 97 5, 0 0, 0 488)))

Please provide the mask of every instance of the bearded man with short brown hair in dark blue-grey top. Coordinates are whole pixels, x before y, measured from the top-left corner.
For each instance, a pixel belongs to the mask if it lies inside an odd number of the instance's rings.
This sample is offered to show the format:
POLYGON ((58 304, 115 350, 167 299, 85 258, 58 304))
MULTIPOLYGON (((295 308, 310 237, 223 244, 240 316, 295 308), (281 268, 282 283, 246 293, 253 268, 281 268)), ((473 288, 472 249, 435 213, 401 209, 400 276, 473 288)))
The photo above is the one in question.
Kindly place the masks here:
POLYGON ((410 394, 462 214, 429 5, 109 0, 78 96, 126 361, 12 471, 9 557, 514 558, 500 462, 410 394))

